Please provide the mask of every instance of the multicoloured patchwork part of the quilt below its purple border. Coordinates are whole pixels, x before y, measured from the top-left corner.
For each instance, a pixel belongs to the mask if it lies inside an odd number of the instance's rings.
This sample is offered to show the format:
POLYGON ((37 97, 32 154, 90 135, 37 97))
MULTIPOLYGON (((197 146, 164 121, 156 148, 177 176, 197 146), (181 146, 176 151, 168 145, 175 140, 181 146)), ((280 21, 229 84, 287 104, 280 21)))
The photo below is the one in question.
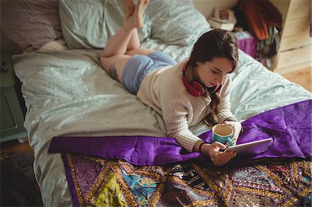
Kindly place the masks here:
POLYGON ((62 153, 75 206, 311 206, 311 161, 205 168, 62 153))

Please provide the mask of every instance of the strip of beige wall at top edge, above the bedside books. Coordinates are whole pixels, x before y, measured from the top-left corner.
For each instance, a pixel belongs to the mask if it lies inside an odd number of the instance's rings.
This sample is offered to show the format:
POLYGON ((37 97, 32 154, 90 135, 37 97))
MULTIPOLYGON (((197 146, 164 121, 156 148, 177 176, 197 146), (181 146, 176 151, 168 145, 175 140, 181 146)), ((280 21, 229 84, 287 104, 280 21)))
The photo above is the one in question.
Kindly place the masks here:
POLYGON ((206 18, 212 15, 214 7, 232 9, 239 0, 193 0, 197 10, 206 18))

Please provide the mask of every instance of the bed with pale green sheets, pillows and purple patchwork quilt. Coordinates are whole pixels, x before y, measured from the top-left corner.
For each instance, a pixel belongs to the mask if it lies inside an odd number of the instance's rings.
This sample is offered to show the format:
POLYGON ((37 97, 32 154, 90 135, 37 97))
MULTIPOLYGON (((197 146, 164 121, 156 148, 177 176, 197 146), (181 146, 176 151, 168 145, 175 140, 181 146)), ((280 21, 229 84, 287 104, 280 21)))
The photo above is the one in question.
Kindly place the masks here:
MULTIPOLYGON (((245 129, 238 143, 275 143, 216 168, 166 138, 162 117, 101 69, 101 49, 123 19, 119 1, 49 3, 54 10, 41 9, 56 12, 49 18, 59 25, 45 21, 36 34, 47 26, 55 33, 12 57, 44 206, 311 206, 309 91, 239 51, 230 75, 232 112, 245 129)), ((177 62, 211 29, 185 0, 150 1, 144 22, 141 46, 177 62)), ((200 123, 191 131, 211 141, 210 129, 200 123)))

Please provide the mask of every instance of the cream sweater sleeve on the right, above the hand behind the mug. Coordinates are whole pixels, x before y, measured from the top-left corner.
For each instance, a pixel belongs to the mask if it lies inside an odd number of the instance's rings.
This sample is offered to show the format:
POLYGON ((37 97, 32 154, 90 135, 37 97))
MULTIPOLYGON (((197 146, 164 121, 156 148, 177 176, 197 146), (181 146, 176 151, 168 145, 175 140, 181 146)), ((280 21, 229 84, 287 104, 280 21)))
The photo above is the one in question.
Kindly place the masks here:
POLYGON ((219 123, 223 123, 227 118, 236 120, 231 111, 230 93, 232 90, 232 81, 229 79, 228 75, 224 82, 225 84, 223 84, 223 89, 220 92, 220 111, 219 114, 217 114, 219 123))

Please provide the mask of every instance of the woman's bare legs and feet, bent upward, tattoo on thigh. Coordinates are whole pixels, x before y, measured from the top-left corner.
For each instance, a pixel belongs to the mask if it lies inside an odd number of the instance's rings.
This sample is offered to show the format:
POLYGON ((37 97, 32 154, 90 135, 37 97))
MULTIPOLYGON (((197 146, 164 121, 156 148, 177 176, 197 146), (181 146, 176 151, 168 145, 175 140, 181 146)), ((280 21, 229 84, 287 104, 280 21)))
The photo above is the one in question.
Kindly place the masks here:
POLYGON ((151 50, 140 50, 137 28, 143 26, 143 15, 149 0, 139 0, 134 6, 133 0, 123 0, 125 20, 120 28, 107 42, 101 54, 103 69, 115 80, 122 83, 123 68, 131 55, 147 55, 151 50), (133 8, 135 8, 133 10, 133 8))

